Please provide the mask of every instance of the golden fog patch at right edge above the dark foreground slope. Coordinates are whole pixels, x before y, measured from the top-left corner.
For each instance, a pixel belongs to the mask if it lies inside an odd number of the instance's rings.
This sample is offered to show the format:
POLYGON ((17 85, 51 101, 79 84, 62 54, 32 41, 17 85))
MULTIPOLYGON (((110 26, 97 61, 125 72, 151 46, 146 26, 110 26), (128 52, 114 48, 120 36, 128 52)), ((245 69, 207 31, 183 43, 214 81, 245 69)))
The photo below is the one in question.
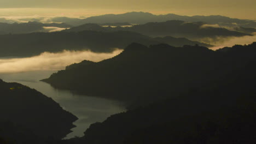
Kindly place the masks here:
POLYGON ((232 47, 234 45, 252 44, 254 41, 256 41, 256 33, 253 33, 253 34, 254 34, 253 36, 245 36, 245 37, 218 38, 218 41, 211 43, 215 46, 210 47, 210 49, 217 50, 225 46, 232 47))

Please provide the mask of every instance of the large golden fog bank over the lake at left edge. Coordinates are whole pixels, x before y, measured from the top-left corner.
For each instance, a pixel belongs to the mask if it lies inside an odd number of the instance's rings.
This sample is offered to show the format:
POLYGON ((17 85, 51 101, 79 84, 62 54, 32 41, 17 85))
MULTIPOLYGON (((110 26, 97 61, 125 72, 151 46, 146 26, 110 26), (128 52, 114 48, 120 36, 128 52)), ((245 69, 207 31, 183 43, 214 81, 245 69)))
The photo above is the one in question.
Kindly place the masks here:
POLYGON ((99 62, 118 55, 123 50, 112 53, 95 53, 91 51, 63 51, 60 53, 44 52, 39 56, 27 58, 0 58, 0 73, 16 73, 36 70, 61 70, 67 65, 83 60, 99 62))

